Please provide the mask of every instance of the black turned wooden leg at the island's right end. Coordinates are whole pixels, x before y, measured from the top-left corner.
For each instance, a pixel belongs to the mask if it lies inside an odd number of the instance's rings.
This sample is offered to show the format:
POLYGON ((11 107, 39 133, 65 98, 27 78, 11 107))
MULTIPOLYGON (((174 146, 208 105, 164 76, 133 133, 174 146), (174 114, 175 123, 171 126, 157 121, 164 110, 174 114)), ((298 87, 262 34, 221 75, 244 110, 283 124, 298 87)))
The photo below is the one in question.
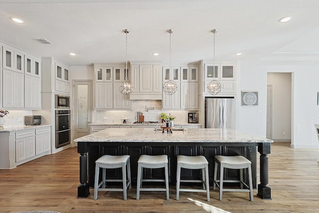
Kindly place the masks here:
POLYGON ((260 153, 260 184, 258 184, 258 193, 261 199, 271 200, 271 188, 268 185, 269 181, 269 167, 268 167, 268 154, 270 154, 270 143, 258 145, 258 152, 260 153))

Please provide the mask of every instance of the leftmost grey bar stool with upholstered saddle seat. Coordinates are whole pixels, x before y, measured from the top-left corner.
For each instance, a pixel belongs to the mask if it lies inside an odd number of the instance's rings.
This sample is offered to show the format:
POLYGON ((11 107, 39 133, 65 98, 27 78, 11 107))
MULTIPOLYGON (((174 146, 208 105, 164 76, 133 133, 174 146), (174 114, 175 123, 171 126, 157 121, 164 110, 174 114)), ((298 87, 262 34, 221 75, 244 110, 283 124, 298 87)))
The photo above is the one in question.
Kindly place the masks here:
POLYGON ((95 161, 95 180, 94 180, 94 200, 98 199, 98 191, 115 191, 123 192, 124 200, 127 200, 127 188, 132 189, 131 184, 131 166, 129 155, 103 155, 95 161), (102 181, 99 183, 100 168, 103 169, 102 181), (122 179, 106 180, 106 169, 122 168, 122 179), (127 170, 126 170, 127 168, 127 170), (126 177, 128 173, 128 177, 126 177), (126 180, 128 178, 128 181, 126 180), (119 188, 105 188, 106 182, 123 182, 123 189, 119 188), (100 188, 102 185, 102 188, 100 188))

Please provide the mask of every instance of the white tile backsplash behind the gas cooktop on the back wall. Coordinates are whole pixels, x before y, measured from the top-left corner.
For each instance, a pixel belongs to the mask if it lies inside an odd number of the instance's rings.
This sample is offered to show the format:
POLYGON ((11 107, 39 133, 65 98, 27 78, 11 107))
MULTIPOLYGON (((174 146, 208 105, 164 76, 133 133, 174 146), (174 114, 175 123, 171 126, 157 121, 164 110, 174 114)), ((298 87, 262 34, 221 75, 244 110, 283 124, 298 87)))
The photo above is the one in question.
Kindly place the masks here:
MULTIPOLYGON (((93 123, 119 123, 122 122, 121 117, 127 116, 128 123, 134 123, 137 121, 136 112, 143 112, 144 121, 160 121, 160 113, 174 115, 175 123, 187 123, 187 110, 161 110, 160 100, 135 100, 132 101, 132 110, 96 110, 93 112, 93 123), (153 108, 154 110, 146 111, 145 107, 153 108), (104 119, 103 119, 104 117, 104 119), (95 118, 95 120, 94 120, 95 118)), ((192 111, 194 112, 194 111, 192 111)))

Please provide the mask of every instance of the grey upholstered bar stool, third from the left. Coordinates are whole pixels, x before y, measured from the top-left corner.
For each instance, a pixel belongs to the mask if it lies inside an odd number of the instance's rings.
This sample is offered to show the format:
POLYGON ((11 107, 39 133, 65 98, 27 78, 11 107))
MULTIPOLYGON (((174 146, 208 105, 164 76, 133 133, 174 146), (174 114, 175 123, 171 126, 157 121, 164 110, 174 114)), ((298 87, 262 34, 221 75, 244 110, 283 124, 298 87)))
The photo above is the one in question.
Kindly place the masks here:
POLYGON ((177 155, 177 171, 176 171, 176 200, 179 200, 179 192, 206 192, 207 201, 209 196, 209 176, 208 161, 204 156, 183 156, 177 155), (180 170, 184 169, 201 169, 202 180, 180 180, 180 170), (203 183, 203 189, 180 189, 180 182, 203 183))

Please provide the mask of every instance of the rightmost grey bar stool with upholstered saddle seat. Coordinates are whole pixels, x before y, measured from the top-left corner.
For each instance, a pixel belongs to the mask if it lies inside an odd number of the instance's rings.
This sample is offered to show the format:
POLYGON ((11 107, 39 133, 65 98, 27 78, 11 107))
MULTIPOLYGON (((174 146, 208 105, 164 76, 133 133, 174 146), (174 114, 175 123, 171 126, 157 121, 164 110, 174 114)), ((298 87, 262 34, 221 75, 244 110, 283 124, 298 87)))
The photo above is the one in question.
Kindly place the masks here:
POLYGON ((215 156, 215 172, 214 172, 214 185, 213 190, 216 189, 216 185, 219 188, 219 200, 222 200, 223 192, 249 192, 250 201, 254 201, 253 198, 253 181, 251 173, 251 162, 243 156, 215 156), (219 180, 217 180, 217 167, 219 166, 219 180), (240 180, 223 180, 224 168, 227 169, 240 169, 240 180), (243 169, 248 168, 249 187, 243 181, 243 169), (223 183, 240 183, 240 189, 223 189, 223 183), (219 184, 218 184, 219 183, 219 184), (244 189, 245 185, 249 189, 244 189))

